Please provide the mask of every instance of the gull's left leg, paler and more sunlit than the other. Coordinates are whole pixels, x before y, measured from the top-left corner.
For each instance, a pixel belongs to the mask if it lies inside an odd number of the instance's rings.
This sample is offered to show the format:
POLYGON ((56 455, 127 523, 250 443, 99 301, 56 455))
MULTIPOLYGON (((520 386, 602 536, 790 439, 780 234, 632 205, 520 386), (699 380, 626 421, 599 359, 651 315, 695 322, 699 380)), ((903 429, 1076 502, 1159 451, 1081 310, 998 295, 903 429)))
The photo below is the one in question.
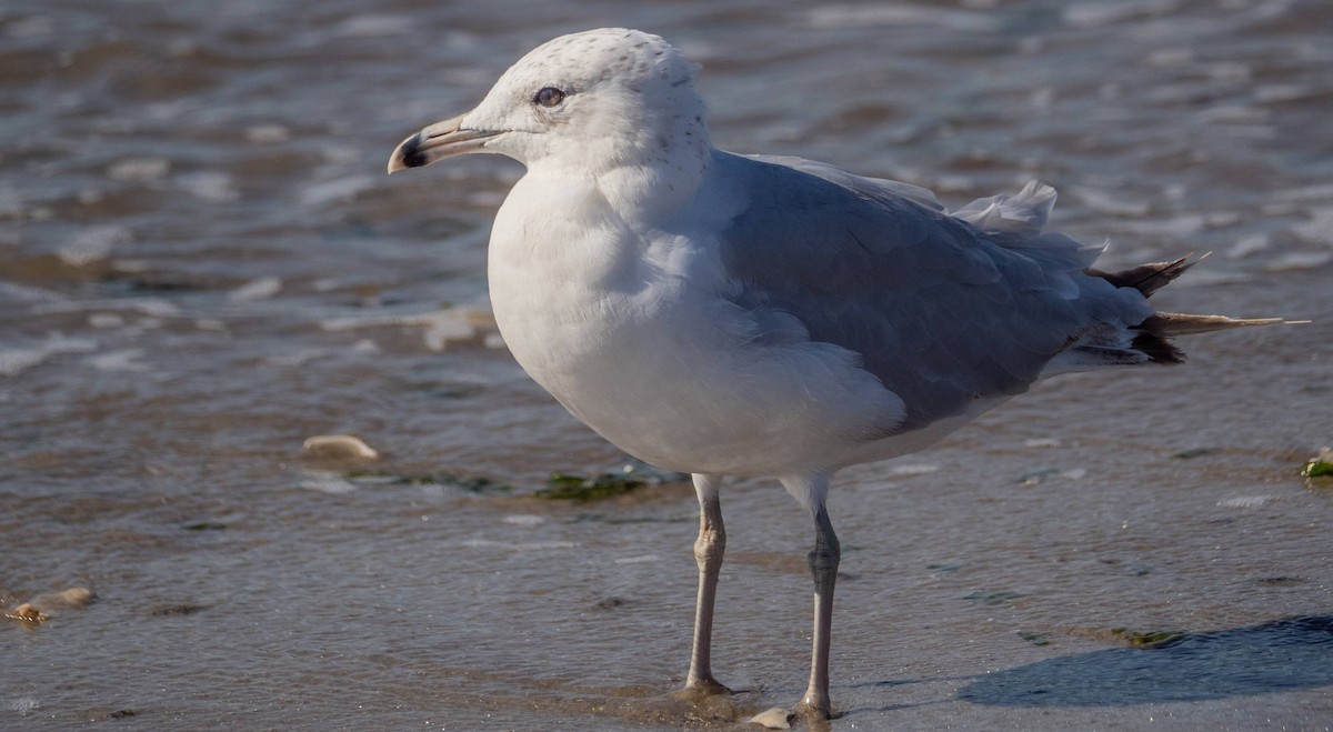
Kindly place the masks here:
POLYGON ((713 600, 717 596, 717 575, 722 568, 726 549, 726 531, 722 528, 722 504, 718 488, 722 479, 716 475, 694 473, 694 492, 698 495, 698 539, 694 540, 694 561, 698 563, 698 601, 694 605, 694 643, 689 653, 686 691, 704 693, 730 693, 713 679, 713 600))

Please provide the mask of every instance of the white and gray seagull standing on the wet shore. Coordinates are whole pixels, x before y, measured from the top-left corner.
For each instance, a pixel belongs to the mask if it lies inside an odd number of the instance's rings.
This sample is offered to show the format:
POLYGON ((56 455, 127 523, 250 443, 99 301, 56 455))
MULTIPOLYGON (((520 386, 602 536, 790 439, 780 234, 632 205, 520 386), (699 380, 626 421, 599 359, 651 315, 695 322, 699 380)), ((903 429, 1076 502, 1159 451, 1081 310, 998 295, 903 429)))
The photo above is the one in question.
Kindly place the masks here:
POLYGON ((1156 312, 1189 257, 1122 272, 1044 231, 1049 185, 948 212, 924 188, 709 141, 694 67, 659 36, 551 40, 465 115, 404 140, 389 172, 500 153, 525 175, 496 213, 488 279, 519 364, 625 452, 692 475, 698 595, 686 692, 712 671, 725 476, 776 477, 814 523, 809 687, 830 719, 848 465, 920 451, 1034 381, 1184 360, 1173 336, 1260 325, 1156 312))

